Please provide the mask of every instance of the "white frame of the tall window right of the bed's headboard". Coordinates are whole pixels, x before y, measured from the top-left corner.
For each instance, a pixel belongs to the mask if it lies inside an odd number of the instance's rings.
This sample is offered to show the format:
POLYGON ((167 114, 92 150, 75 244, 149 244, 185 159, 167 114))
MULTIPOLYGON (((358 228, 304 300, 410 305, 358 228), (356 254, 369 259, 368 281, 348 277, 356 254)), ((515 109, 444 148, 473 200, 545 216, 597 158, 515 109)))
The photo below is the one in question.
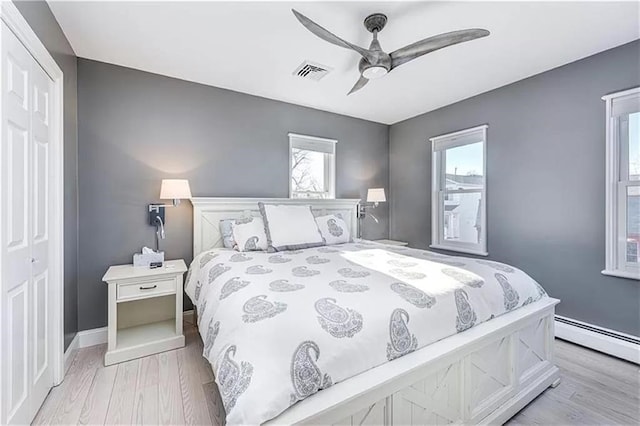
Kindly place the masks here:
MULTIPOLYGON (((457 251, 460 253, 488 256, 487 252, 487 129, 488 125, 472 127, 458 132, 447 133, 445 135, 430 138, 431 159, 432 159, 432 180, 431 180, 431 244, 429 247, 442 250, 457 251), (468 145, 471 142, 464 142, 465 139, 473 135, 482 138, 482 176, 483 186, 481 192, 481 229, 480 242, 477 244, 461 241, 447 241, 444 238, 444 188, 446 184, 446 165, 444 151, 457 146, 468 145)), ((477 142, 477 141, 476 141, 477 142)), ((469 193, 477 190, 454 190, 449 193, 469 193)))

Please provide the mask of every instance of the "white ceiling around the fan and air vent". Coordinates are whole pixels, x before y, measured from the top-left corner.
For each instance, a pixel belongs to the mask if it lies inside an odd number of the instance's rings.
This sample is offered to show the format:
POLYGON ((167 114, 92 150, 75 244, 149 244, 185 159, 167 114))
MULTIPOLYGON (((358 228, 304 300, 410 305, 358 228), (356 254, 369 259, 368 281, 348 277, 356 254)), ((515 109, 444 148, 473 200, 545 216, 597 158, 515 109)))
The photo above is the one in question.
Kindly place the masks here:
POLYGON ((640 38, 640 3, 624 2, 53 2, 76 54, 211 86, 392 124, 640 38), (368 47, 362 20, 389 17, 391 52, 438 33, 489 37, 402 65, 346 96, 355 52, 320 40, 295 7, 368 47), (320 82, 292 75, 305 59, 333 68, 320 82))

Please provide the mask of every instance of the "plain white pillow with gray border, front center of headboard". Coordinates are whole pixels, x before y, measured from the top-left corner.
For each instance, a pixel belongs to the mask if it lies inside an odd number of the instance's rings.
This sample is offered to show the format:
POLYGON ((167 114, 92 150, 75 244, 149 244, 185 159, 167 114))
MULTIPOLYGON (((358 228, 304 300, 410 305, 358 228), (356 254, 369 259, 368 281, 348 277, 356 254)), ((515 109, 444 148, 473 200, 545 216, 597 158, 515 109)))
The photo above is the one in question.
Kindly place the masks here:
POLYGON ((267 234, 268 251, 298 250, 325 244, 311 206, 258 203, 267 234))

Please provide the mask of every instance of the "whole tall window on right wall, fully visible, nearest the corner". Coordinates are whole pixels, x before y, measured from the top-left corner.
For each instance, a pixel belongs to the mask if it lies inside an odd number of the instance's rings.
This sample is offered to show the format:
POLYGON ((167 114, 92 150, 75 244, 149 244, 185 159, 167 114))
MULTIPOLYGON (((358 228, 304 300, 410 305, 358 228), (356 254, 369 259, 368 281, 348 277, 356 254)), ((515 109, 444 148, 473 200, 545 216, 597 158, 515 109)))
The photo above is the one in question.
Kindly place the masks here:
POLYGON ((487 253, 487 126, 431 138, 431 247, 487 253))

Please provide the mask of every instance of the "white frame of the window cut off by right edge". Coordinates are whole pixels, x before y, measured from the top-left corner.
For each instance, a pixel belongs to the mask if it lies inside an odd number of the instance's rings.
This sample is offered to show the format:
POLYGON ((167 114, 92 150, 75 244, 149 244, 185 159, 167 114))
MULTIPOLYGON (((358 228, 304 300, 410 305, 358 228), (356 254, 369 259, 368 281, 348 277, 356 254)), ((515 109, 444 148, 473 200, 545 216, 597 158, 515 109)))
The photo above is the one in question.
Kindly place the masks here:
POLYGON ((640 280, 640 268, 626 261, 627 189, 640 181, 624 180, 628 149, 620 139, 620 116, 640 111, 640 87, 602 97, 606 103, 606 249, 604 275, 640 280), (625 155, 626 154, 626 155, 625 155))

